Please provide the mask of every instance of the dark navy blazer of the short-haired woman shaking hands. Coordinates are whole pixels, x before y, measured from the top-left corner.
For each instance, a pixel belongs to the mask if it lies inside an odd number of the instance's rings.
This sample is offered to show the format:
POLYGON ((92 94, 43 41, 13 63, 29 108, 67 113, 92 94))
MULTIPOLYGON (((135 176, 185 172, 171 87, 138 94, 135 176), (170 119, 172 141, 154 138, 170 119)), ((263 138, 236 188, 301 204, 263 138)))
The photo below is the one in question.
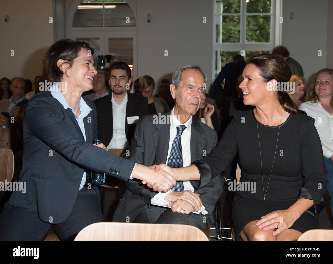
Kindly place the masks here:
POLYGON ((93 146, 97 139, 96 107, 83 119, 81 129, 70 108, 50 91, 34 95, 27 103, 23 121, 24 154, 20 181, 27 182, 26 193, 14 191, 9 204, 38 210, 41 220, 57 224, 73 209, 83 172, 96 170, 127 181, 134 162, 93 146))

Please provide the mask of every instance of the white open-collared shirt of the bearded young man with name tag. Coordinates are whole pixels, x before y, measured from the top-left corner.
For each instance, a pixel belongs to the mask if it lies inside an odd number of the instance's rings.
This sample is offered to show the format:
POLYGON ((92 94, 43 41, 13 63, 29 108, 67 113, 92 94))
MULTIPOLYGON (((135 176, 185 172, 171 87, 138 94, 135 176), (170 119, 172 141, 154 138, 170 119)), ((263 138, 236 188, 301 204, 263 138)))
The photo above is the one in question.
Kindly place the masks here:
POLYGON ((113 115, 113 134, 107 149, 125 149, 130 147, 126 138, 126 104, 128 101, 127 92, 124 99, 118 104, 112 93, 112 115, 113 115))

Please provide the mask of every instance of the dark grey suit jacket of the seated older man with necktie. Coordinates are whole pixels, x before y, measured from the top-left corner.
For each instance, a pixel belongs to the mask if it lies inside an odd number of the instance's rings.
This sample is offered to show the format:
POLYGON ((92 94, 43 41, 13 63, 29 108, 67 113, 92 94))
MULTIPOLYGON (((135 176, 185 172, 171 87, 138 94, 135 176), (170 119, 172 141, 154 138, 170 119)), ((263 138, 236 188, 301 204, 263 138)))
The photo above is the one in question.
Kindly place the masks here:
MULTIPOLYGON (((171 111, 161 114, 161 116, 167 116, 170 113, 171 111)), ((169 124, 154 124, 154 115, 143 116, 135 129, 129 159, 146 166, 166 163, 169 137, 169 124)), ((202 159, 205 152, 210 153, 217 142, 217 134, 213 129, 192 118, 191 162, 202 159)), ((210 177, 206 178, 205 175, 202 175, 199 181, 191 181, 191 184, 194 186, 194 192, 200 194, 200 199, 206 210, 212 213, 216 201, 222 194, 223 182, 221 175, 211 180, 210 177)), ((141 210, 146 210, 150 221, 155 222, 157 219, 156 216, 152 215, 152 211, 156 206, 151 206, 150 201, 157 192, 143 186, 140 181, 136 180, 130 180, 126 185, 128 190, 118 204, 113 221, 125 222, 129 216, 130 222, 133 222, 141 210)))

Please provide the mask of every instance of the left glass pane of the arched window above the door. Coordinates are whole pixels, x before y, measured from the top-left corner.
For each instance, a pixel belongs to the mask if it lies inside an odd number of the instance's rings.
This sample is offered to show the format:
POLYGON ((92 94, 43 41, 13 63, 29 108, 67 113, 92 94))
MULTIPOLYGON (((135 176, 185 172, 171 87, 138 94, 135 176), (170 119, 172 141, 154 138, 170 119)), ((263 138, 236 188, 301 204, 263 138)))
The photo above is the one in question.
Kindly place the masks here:
POLYGON ((83 1, 74 15, 73 27, 103 27, 103 2, 83 1))

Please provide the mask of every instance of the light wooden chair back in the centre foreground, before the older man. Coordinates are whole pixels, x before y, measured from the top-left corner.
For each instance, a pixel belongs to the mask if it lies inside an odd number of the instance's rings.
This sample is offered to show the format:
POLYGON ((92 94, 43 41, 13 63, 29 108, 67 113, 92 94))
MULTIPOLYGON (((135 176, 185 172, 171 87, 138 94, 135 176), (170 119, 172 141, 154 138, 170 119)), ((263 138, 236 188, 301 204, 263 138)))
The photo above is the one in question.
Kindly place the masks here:
POLYGON ((74 241, 208 241, 191 225, 94 223, 83 228, 74 241))

